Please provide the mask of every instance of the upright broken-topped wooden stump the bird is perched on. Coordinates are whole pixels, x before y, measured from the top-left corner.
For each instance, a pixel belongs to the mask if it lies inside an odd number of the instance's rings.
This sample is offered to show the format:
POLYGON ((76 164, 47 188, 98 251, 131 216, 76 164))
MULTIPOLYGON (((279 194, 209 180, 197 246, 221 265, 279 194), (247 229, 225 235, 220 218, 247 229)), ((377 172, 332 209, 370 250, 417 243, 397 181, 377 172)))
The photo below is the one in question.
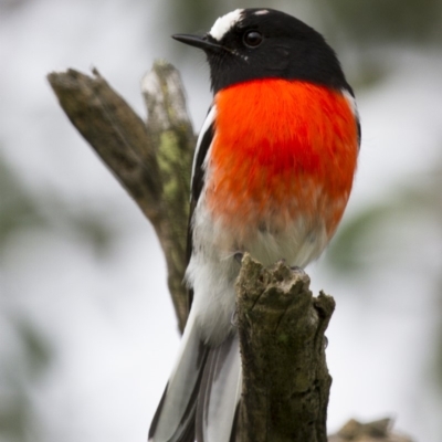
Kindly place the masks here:
POLYGON ((304 272, 249 255, 236 283, 243 367, 241 442, 326 442, 332 378, 325 336, 335 301, 304 272))

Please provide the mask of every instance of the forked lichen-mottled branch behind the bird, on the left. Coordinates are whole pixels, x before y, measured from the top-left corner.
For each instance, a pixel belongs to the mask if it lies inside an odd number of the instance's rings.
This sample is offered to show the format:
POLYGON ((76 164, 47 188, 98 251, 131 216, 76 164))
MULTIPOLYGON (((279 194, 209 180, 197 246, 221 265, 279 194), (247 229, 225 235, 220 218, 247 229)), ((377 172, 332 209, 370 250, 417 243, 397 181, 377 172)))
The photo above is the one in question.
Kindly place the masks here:
POLYGON ((182 332, 188 314, 182 280, 194 135, 179 73, 168 63, 156 62, 145 76, 147 124, 98 71, 93 74, 69 70, 51 73, 48 80, 72 124, 154 225, 182 332))

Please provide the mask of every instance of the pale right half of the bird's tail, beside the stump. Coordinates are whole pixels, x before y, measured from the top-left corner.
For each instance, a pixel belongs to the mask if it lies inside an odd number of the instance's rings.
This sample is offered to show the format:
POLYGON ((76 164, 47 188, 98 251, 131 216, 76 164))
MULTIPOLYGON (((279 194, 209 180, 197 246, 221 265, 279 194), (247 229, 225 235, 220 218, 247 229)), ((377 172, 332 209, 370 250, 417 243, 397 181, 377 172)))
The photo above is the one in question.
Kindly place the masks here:
POLYGON ((232 334, 209 351, 198 398, 198 442, 231 440, 241 398, 241 379, 238 334, 232 334))

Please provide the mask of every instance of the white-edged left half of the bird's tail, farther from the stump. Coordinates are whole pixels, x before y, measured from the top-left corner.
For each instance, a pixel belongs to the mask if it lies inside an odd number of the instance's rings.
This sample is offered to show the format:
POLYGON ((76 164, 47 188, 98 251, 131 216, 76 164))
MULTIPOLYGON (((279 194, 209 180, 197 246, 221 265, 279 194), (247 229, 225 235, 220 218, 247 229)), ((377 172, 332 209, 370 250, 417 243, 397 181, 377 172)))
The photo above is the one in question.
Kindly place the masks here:
POLYGON ((193 442, 197 399, 208 354, 209 347, 188 324, 178 361, 150 424, 149 442, 193 442))

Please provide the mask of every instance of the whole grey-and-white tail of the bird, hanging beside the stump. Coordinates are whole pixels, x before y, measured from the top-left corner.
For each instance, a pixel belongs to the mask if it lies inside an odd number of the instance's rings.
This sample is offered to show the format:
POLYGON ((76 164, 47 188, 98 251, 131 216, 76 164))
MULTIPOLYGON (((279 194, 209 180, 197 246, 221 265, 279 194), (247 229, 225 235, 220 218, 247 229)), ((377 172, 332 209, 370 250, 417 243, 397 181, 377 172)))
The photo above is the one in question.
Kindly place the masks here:
MULTIPOLYGON (((192 315, 149 430, 149 442, 230 442, 241 397, 238 334, 209 347, 192 315)), ((233 438, 233 439, 232 439, 233 438)))

